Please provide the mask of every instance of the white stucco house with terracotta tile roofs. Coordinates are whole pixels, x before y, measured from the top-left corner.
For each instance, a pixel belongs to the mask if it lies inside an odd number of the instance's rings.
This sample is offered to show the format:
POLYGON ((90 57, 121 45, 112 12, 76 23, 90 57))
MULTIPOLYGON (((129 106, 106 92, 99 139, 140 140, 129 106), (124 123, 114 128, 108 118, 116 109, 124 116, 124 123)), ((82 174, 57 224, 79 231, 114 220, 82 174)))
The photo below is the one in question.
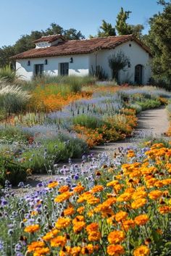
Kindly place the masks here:
POLYGON ((149 62, 151 52, 133 35, 109 36, 84 40, 66 41, 63 36, 42 36, 34 41, 35 49, 17 54, 17 74, 25 80, 36 75, 91 75, 92 68, 103 68, 112 77, 109 57, 122 51, 129 59, 128 68, 119 73, 120 83, 146 84, 151 77, 149 62))

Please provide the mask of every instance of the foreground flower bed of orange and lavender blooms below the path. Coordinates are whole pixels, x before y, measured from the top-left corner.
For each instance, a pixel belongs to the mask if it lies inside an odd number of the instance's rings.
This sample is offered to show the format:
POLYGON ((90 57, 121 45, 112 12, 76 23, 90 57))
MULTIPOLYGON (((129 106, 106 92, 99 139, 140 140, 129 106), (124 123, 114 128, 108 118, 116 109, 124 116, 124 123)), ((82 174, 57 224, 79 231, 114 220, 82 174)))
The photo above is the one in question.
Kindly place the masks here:
POLYGON ((31 196, 6 189, 1 255, 170 255, 170 156, 162 143, 120 149, 57 170, 31 196))

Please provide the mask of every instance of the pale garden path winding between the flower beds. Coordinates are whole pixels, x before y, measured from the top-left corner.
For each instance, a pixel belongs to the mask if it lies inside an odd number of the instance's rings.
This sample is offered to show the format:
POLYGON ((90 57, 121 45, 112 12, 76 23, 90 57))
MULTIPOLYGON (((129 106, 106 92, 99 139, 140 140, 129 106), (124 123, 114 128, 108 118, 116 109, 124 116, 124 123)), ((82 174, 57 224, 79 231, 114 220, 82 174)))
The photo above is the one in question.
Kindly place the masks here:
MULTIPOLYGON (((125 139, 122 141, 116 141, 114 143, 109 143, 101 146, 96 146, 96 149, 91 150, 94 156, 101 152, 106 152, 107 154, 114 154, 118 147, 128 147, 136 146, 141 141, 147 137, 151 138, 161 138, 164 137, 164 133, 169 127, 169 121, 167 117, 167 110, 164 107, 159 107, 154 110, 146 110, 138 115, 138 126, 135 129, 132 138, 125 139)), ((79 164, 81 160, 73 161, 75 164, 79 164)), ((62 163, 64 165, 64 163, 62 163)), ((67 164, 66 164, 67 165, 67 164)), ((14 193, 18 195, 27 194, 36 190, 37 183, 41 181, 50 181, 57 178, 57 176, 48 175, 33 175, 29 178, 28 182, 33 188, 32 189, 14 189, 14 193)))

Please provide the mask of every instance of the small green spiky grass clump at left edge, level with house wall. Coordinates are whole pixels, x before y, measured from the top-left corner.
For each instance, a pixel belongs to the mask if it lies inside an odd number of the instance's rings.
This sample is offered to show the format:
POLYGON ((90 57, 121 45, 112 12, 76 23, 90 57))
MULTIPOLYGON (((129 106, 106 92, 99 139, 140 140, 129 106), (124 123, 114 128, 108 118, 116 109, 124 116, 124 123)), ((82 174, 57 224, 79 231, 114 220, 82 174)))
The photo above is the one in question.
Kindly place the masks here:
POLYGON ((15 70, 12 70, 10 65, 0 68, 0 79, 7 80, 9 83, 13 83, 18 78, 15 70))

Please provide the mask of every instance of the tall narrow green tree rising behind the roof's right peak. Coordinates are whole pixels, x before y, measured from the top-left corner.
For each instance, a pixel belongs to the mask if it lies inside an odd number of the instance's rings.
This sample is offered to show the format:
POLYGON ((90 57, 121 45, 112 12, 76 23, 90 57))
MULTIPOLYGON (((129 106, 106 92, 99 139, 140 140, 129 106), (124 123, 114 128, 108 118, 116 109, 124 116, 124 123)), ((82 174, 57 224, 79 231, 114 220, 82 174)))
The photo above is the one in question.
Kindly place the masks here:
POLYGON ((126 20, 128 20, 130 11, 124 11, 124 9, 121 7, 119 14, 117 15, 117 33, 122 36, 122 35, 129 35, 133 33, 133 30, 131 29, 131 25, 128 25, 126 20))

